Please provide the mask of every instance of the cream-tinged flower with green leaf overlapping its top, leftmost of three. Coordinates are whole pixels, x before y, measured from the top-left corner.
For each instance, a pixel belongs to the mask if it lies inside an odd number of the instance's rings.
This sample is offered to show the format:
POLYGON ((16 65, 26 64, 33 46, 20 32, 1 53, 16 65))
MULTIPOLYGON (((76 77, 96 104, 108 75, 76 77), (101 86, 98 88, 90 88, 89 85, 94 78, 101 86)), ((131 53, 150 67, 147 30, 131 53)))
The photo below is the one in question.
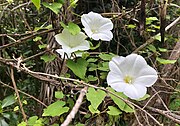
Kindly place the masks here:
POLYGON ((64 29, 62 33, 55 35, 56 41, 62 46, 62 49, 57 49, 56 51, 62 57, 66 53, 70 58, 73 52, 90 49, 89 42, 85 40, 86 38, 87 36, 83 32, 72 35, 67 29, 64 29))

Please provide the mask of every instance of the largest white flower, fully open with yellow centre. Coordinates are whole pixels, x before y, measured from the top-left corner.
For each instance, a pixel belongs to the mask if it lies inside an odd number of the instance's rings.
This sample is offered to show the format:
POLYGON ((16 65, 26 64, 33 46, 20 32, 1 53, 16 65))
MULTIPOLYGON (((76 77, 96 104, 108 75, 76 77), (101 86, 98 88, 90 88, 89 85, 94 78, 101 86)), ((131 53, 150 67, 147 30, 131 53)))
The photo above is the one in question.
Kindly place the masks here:
POLYGON ((147 92, 146 87, 152 86, 158 78, 156 70, 137 54, 114 57, 109 68, 107 83, 131 99, 142 98, 147 92))

